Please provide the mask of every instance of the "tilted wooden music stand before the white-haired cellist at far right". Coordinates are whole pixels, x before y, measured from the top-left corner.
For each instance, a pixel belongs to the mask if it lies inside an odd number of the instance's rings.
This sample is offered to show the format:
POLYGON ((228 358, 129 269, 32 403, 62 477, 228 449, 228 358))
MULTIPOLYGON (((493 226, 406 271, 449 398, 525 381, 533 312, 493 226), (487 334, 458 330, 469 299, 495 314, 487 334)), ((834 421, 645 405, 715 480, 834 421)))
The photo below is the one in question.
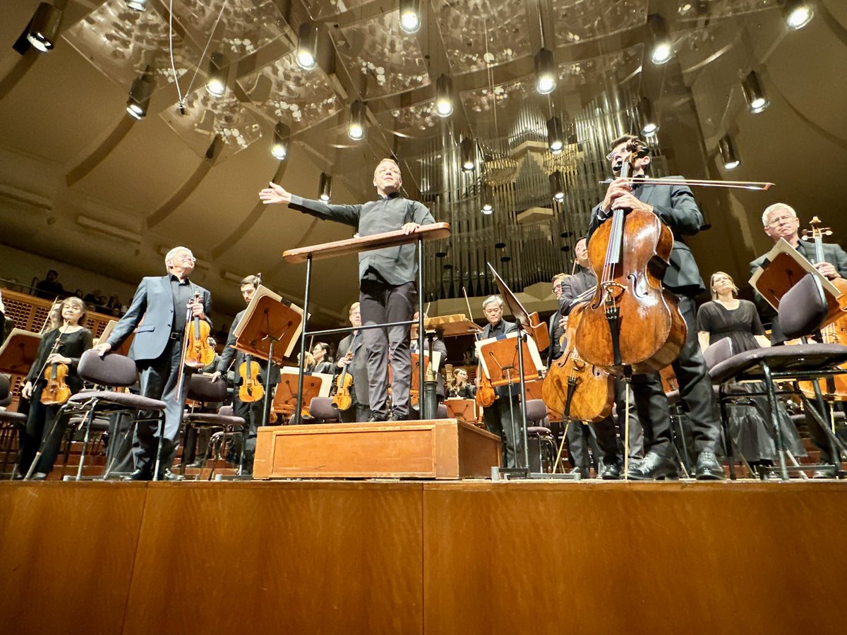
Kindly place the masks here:
POLYGON ((826 326, 844 315, 836 299, 839 290, 784 238, 780 238, 771 251, 767 252, 762 266, 756 269, 756 273, 750 278, 750 284, 774 310, 777 310, 785 292, 800 282, 806 273, 811 273, 818 279, 823 295, 826 296, 827 317, 823 322, 823 326, 826 326))

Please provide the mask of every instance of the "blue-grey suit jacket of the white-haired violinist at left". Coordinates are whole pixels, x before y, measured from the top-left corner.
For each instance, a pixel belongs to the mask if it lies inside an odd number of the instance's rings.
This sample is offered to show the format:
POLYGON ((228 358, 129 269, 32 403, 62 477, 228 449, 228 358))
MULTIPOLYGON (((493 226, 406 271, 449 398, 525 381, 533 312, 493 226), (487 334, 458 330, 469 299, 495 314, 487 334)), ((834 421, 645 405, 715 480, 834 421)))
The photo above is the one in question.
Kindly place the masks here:
MULTIPOLYGON (((202 296, 203 312, 206 313, 206 321, 211 326, 209 314, 212 311, 212 294, 194 283, 191 283, 191 290, 202 296)), ((160 356, 168 345, 171 331, 174 329, 174 320, 184 319, 185 306, 174 308, 170 275, 147 276, 141 279, 130 308, 109 335, 108 343, 115 351, 130 333, 137 329, 136 338, 130 346, 130 357, 136 362, 153 360, 160 356)))

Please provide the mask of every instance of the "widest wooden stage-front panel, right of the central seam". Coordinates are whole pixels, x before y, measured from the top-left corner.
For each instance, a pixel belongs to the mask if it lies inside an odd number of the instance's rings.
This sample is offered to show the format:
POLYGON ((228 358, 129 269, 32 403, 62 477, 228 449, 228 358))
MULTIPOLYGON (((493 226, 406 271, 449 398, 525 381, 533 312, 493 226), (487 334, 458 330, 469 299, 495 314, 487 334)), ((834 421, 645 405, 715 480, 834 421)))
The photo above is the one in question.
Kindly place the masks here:
POLYGON ((424 624, 843 633, 843 483, 424 485, 424 624))

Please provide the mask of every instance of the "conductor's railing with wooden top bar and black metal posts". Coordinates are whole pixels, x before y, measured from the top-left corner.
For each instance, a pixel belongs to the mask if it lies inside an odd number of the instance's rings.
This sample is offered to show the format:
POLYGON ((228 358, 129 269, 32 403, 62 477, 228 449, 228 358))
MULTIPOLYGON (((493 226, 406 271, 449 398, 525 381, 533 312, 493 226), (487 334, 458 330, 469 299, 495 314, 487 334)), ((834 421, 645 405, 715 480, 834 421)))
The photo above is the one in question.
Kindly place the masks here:
MULTIPOLYGON (((303 366, 306 362, 306 356, 302 351, 306 351, 306 338, 310 335, 325 335, 335 333, 347 333, 352 330, 364 329, 385 329, 386 326, 399 326, 401 324, 413 324, 414 320, 407 322, 385 323, 385 324, 367 324, 353 329, 346 327, 344 329, 326 329, 320 331, 308 330, 308 314, 309 314, 309 289, 312 286, 312 261, 323 260, 324 258, 334 258, 340 256, 349 256, 360 251, 372 251, 374 249, 382 249, 383 247, 393 247, 400 245, 408 245, 411 243, 418 244, 418 350, 424 350, 424 241, 440 240, 450 237, 449 223, 434 223, 429 225, 420 225, 411 234, 406 234, 402 229, 396 231, 385 232, 384 234, 374 234, 371 236, 362 236, 360 238, 350 238, 347 240, 336 240, 335 242, 326 242, 321 245, 313 245, 309 247, 298 247, 284 251, 282 256, 287 262, 306 262, 306 291, 303 294, 303 329, 300 334, 300 373, 297 380, 297 405, 296 412, 302 411, 303 398, 303 366)), ((418 370, 420 385, 424 385, 424 367, 418 370)), ((422 400, 423 401, 423 400, 422 400)), ((421 415, 424 418, 435 417, 435 403, 429 404, 423 401, 421 405, 421 415), (427 414, 430 416, 427 417, 427 414)))

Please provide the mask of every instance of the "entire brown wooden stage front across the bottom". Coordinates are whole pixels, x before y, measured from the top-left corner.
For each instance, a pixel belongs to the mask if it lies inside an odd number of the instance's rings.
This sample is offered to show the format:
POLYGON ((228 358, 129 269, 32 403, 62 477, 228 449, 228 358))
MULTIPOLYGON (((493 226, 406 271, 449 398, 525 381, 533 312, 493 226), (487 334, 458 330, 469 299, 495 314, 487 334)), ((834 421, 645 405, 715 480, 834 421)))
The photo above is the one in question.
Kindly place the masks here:
POLYGON ((847 483, 0 483, 0 632, 843 633, 847 483))

